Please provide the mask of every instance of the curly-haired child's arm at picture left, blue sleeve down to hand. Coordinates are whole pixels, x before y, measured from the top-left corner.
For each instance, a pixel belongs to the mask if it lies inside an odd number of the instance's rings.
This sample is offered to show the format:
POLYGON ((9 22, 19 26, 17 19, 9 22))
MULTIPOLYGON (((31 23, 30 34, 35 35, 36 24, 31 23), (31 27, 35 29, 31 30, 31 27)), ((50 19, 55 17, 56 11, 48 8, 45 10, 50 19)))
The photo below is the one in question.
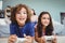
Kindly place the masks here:
POLYGON ((10 37, 8 43, 14 43, 16 41, 16 38, 17 37, 15 34, 14 27, 10 25, 10 37))

